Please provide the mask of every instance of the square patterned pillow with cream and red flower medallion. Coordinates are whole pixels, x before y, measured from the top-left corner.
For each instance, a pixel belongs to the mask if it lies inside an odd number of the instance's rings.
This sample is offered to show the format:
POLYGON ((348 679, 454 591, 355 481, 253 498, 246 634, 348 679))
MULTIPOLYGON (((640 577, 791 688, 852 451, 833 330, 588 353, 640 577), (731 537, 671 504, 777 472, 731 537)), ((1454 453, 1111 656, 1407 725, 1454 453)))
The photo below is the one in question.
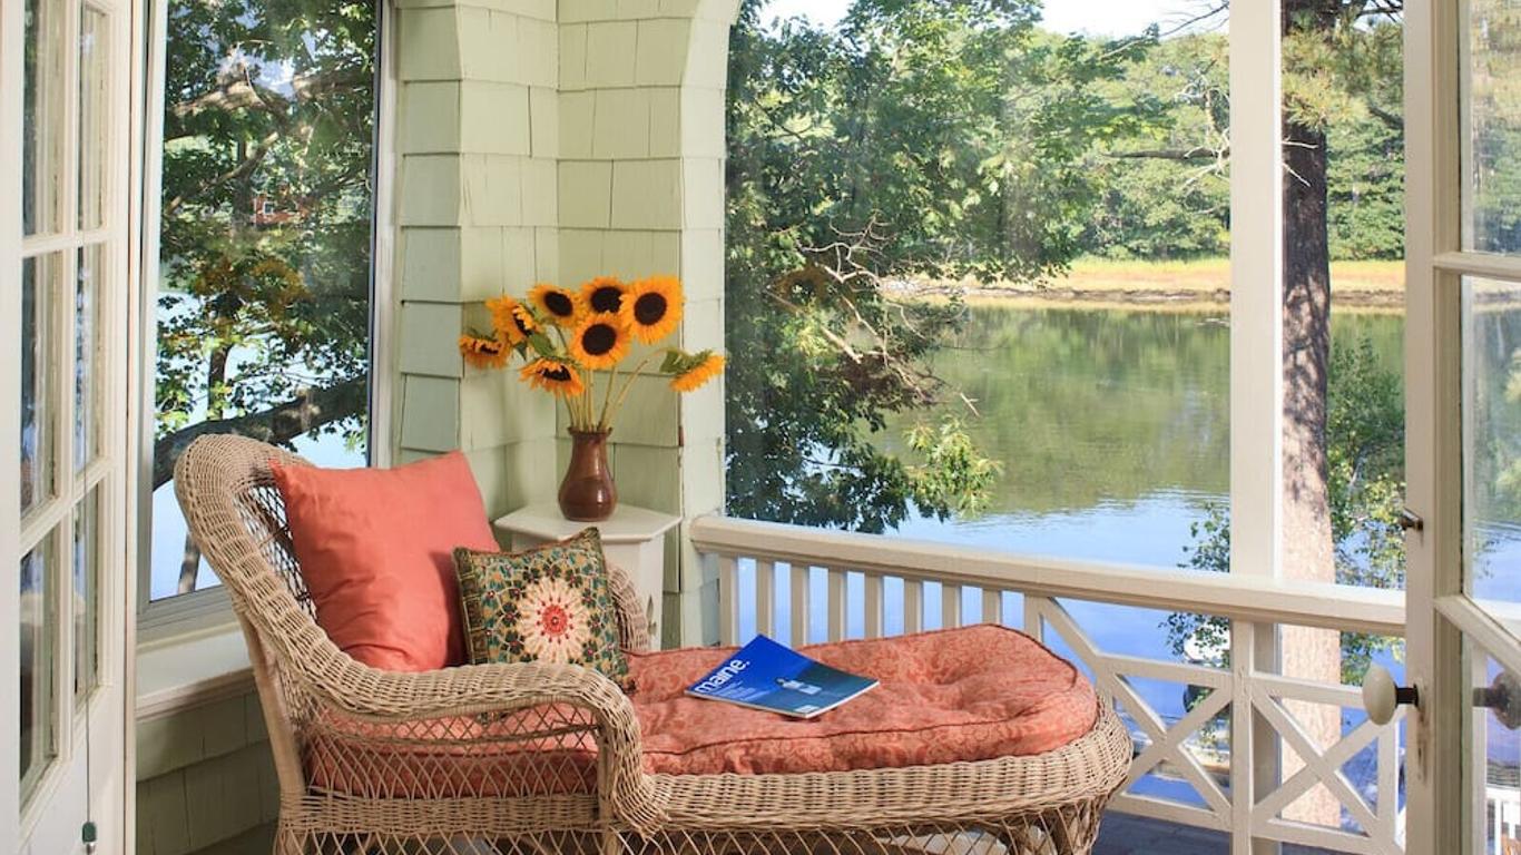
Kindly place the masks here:
POLYGON ((459 548, 455 571, 470 662, 583 665, 631 688, 595 528, 523 552, 459 548))

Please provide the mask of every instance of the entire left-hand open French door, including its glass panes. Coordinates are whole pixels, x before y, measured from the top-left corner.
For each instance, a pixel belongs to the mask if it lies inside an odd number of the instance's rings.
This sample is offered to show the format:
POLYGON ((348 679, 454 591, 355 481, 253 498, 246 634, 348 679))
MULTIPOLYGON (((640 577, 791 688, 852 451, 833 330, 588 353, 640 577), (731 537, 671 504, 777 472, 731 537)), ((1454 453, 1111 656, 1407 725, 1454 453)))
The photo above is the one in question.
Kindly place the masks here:
POLYGON ((123 852, 132 6, 0 9, 0 850, 123 852))

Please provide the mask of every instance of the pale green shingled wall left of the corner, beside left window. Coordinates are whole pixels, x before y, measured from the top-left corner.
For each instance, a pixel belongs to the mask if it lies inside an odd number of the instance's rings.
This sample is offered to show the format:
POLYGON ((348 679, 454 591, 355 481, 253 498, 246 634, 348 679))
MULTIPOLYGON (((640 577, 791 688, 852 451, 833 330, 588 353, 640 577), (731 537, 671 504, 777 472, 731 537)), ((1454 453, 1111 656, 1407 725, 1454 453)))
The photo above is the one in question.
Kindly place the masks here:
POLYGON ((560 275, 555 6, 399 0, 394 21, 392 449, 464 450, 499 514, 555 494, 554 403, 455 341, 490 329, 485 298, 560 275))

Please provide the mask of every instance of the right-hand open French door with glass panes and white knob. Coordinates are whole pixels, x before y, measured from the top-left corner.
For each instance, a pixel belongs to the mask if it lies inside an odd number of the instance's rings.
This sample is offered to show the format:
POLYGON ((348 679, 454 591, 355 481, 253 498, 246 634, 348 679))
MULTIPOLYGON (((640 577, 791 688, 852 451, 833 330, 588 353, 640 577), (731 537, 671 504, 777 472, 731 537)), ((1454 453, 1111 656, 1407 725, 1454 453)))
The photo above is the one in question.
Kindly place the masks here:
POLYGON ((1521 853, 1521 5, 1407 0, 1413 855, 1521 853), (1411 520, 1416 522, 1415 519, 1411 520))

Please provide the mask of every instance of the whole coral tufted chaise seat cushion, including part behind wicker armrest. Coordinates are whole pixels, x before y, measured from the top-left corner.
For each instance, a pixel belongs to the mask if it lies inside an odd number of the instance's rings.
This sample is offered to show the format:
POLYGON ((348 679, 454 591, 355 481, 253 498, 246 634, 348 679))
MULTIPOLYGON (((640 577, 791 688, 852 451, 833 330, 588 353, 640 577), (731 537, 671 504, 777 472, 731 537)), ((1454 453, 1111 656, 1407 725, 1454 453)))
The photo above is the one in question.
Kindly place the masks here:
MULTIPOLYGON (((1005 627, 805 647, 803 653, 826 665, 881 680, 812 720, 683 694, 733 650, 628 654, 645 771, 847 771, 1039 755, 1078 739, 1098 715, 1094 688, 1081 672, 1005 627)), ((564 707, 540 707, 514 720, 458 718, 430 726, 444 738, 476 739, 468 745, 429 745, 415 726, 405 733, 322 727, 309 742, 307 768, 321 788, 371 797, 589 791, 596 777, 589 736, 500 741, 528 721, 572 715, 564 707)))

